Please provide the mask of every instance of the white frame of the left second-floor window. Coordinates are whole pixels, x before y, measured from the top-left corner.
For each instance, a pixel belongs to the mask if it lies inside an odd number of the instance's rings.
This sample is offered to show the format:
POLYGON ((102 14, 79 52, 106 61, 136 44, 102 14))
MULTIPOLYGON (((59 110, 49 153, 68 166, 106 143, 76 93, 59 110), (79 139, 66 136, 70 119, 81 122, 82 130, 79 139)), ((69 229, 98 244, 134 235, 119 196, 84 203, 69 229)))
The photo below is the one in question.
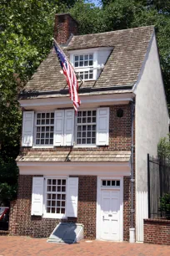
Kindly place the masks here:
MULTIPOLYGON (((53 144, 44 144, 44 145, 37 145, 36 144, 36 136, 37 136, 37 114, 39 113, 54 113, 54 123, 55 123, 55 110, 41 110, 41 111, 35 111, 34 113, 34 127, 33 127, 33 146, 32 148, 53 148, 53 144)), ((53 124, 53 129, 54 129, 54 124, 53 124)), ((54 131, 53 131, 53 140, 54 140, 54 131)))

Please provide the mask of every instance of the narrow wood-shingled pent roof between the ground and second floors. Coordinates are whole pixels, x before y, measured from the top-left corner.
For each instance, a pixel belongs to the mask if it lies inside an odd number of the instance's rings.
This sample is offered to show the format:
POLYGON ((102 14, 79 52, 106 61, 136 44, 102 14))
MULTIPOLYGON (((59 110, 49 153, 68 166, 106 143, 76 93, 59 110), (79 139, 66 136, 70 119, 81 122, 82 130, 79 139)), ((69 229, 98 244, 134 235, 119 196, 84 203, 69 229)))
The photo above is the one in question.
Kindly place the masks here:
POLYGON ((131 151, 28 151, 18 156, 17 161, 129 161, 131 151))

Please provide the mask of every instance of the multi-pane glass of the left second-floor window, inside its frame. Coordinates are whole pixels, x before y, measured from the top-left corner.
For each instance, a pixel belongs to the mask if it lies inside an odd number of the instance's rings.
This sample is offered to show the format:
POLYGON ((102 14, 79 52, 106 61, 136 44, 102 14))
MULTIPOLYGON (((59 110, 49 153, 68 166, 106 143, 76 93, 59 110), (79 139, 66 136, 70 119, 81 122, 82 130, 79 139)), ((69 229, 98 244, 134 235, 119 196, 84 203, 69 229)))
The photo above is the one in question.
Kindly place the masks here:
POLYGON ((37 113, 36 117, 35 144, 53 145, 54 112, 37 113))

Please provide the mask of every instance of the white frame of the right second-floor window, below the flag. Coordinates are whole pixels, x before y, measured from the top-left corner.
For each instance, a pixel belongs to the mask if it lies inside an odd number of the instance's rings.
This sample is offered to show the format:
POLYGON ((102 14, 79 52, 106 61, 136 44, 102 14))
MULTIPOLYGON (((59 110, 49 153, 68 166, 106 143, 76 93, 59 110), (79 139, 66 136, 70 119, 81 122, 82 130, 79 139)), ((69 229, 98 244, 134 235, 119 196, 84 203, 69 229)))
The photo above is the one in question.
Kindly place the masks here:
MULTIPOLYGON (((88 109, 80 109, 79 111, 87 111, 87 110, 90 110, 90 111, 93 111, 93 110, 96 110, 96 143, 97 143, 97 108, 88 108, 88 109)), ((83 125, 83 124, 82 124, 83 125)), ((87 123, 86 124, 84 124, 84 125, 87 125, 87 123)), ((90 123, 89 123, 89 125, 91 125, 90 123)), ((75 148, 77 147, 97 147, 97 144, 95 143, 95 144, 77 144, 77 116, 76 116, 76 118, 75 118, 75 140, 74 140, 74 144, 75 144, 75 148)))

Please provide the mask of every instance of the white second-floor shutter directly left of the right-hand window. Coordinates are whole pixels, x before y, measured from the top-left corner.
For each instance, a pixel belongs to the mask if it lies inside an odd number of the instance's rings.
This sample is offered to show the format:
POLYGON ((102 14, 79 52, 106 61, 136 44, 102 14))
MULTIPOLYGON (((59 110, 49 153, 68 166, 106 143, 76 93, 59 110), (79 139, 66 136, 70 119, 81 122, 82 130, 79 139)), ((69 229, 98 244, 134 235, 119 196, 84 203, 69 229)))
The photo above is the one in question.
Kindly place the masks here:
POLYGON ((65 110, 64 146, 73 145, 73 136, 74 136, 74 110, 65 110))

